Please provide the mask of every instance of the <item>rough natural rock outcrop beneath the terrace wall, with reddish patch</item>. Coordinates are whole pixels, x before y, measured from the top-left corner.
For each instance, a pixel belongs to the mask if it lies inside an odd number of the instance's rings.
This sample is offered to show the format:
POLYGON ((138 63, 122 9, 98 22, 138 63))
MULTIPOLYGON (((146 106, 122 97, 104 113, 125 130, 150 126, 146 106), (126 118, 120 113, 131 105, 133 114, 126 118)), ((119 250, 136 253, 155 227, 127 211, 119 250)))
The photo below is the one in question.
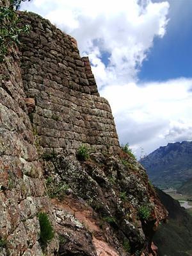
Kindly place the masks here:
POLYGON ((75 251, 80 255, 94 255, 92 248, 97 255, 128 255, 122 248, 125 241, 130 246, 129 252, 143 251, 149 255, 148 239, 153 231, 145 228, 156 226, 166 212, 161 203, 154 200, 154 191, 148 186, 147 175, 140 164, 126 155, 122 157, 124 164, 102 153, 93 154, 92 159, 83 164, 76 157, 63 154, 52 155, 45 162, 47 178, 51 179, 48 190, 61 200, 52 200, 52 206, 58 216, 56 228, 65 241, 60 243, 59 252, 63 255, 75 251), (56 192, 61 184, 67 188, 64 199, 56 192), (151 209, 150 218, 145 221, 140 219, 141 205, 151 209), (82 229, 79 237, 82 224, 87 231, 82 229), (84 232, 91 232, 92 239, 87 234, 84 240, 84 232), (73 236, 78 237, 78 243, 73 236), (82 252, 80 248, 84 248, 82 252))

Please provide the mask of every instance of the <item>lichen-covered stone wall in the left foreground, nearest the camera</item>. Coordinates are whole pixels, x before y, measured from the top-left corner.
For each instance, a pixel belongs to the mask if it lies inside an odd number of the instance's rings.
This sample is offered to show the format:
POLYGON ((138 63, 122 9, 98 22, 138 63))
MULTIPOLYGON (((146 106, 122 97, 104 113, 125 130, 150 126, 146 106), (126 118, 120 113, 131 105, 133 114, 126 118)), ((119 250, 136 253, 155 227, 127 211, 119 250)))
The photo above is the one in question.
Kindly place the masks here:
MULTIPOLYGON (((1 256, 41 256, 38 212, 52 216, 25 98, 18 51, 10 49, 0 63, 1 256)), ((55 246, 53 241, 49 255, 55 246)))

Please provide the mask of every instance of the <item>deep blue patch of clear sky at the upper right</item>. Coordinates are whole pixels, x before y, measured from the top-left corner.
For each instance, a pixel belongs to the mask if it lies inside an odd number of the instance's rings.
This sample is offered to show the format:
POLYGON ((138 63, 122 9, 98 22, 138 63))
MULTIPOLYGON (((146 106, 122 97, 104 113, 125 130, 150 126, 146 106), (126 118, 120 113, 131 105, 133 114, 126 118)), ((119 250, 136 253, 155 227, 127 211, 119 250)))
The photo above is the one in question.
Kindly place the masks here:
POLYGON ((154 38, 154 46, 138 74, 140 80, 168 80, 191 77, 192 1, 172 0, 168 26, 163 39, 154 38))

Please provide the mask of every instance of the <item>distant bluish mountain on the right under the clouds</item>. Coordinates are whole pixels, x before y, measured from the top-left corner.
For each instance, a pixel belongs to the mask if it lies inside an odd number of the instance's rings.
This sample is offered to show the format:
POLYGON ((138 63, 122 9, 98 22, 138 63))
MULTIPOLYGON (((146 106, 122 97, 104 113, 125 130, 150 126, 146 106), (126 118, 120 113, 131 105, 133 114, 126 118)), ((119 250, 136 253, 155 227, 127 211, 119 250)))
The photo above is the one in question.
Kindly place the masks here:
POLYGON ((192 178, 192 142, 168 143, 140 160, 157 187, 178 188, 192 178))

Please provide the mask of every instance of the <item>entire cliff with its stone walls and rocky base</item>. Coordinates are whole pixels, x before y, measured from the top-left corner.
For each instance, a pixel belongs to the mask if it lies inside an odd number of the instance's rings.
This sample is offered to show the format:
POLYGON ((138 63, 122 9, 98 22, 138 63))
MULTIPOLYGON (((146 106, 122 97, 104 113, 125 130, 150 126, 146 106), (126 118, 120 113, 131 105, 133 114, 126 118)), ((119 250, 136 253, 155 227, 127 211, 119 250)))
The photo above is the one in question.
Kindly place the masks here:
POLYGON ((150 255, 166 211, 120 149, 88 58, 49 21, 19 15, 31 32, 0 66, 0 255, 150 255), (46 246, 39 212, 54 228, 46 246))

